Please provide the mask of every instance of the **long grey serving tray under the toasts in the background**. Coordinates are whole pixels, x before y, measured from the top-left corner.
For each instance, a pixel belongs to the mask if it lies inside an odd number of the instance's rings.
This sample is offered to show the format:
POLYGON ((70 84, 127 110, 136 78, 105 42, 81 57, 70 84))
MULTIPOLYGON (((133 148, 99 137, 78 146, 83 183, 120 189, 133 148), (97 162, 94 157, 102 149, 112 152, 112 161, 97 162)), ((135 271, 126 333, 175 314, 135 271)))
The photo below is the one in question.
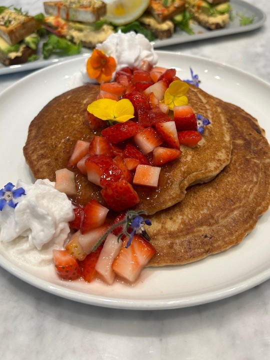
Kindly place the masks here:
MULTIPOLYGON (((224 29, 220 30, 207 30, 202 26, 197 24, 192 24, 191 27, 194 31, 194 34, 188 35, 186 32, 177 29, 172 37, 164 40, 156 40, 153 41, 152 44, 155 48, 168 46, 168 45, 175 45, 179 43, 189 42, 189 41, 197 41, 203 39, 210 39, 213 37, 219 37, 224 35, 231 35, 239 32, 246 32, 250 30, 254 30, 264 23, 266 16, 263 11, 259 8, 245 2, 242 0, 231 0, 232 6, 232 13, 233 13, 233 20, 226 26, 224 29), (244 14, 245 16, 251 17, 254 15, 254 21, 251 24, 240 26, 239 24, 239 17, 237 13, 244 14)), ((51 65, 56 62, 63 62, 70 58, 70 56, 58 57, 56 55, 51 55, 50 58, 43 60, 42 59, 42 51, 41 51, 42 41, 39 44, 37 54, 39 55, 39 59, 33 62, 26 62, 23 64, 12 65, 12 66, 4 66, 0 64, 0 75, 12 73, 12 72, 19 72, 19 71, 26 71, 26 70, 34 70, 41 67, 45 67, 51 65)), ((71 57, 78 57, 78 56, 88 56, 90 49, 83 47, 81 49, 80 55, 74 55, 71 57)))

